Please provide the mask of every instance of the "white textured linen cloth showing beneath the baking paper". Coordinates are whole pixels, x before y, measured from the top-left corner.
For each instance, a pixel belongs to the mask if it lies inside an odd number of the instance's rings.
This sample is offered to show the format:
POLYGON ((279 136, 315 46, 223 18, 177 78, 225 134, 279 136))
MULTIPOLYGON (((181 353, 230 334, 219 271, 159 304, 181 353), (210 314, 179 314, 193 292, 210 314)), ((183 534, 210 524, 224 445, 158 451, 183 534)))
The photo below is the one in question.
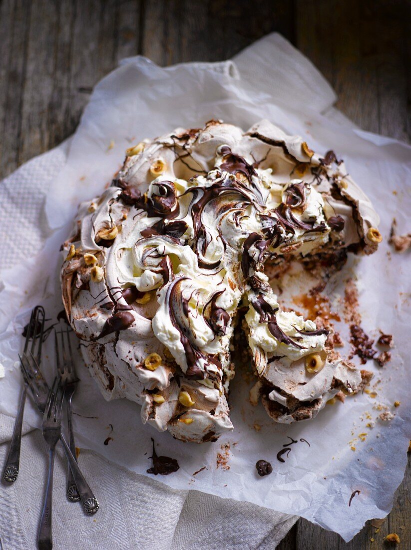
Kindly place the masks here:
MULTIPOLYGON (((241 78, 266 90, 279 105, 303 108, 308 98, 311 109, 327 112, 330 118, 352 126, 332 109, 336 96, 323 76, 280 35, 272 34, 256 42, 238 54, 234 62, 235 65, 209 63, 207 67, 217 72, 240 72, 241 78), (262 70, 262 59, 273 68, 270 74, 262 70)), ((69 146, 70 140, 66 140, 0 182, 0 269, 24 262, 27 255, 42 248, 51 234, 44 211, 45 197, 49 184, 64 167, 69 146), (12 217, 10 212, 14 213, 12 217)), ((12 417, 0 414, 0 464, 7 454, 13 425, 12 417)), ((29 430, 25 425, 24 432, 29 430)), ((59 449, 53 487, 55 548, 274 549, 297 520, 297 516, 247 502, 171 489, 95 452, 81 450, 79 464, 98 493, 101 508, 90 518, 80 504, 66 500, 66 464, 59 449)), ((36 547, 46 479, 47 445, 40 431, 26 433, 18 480, 12 486, 2 480, 0 485, 3 550, 36 547)))

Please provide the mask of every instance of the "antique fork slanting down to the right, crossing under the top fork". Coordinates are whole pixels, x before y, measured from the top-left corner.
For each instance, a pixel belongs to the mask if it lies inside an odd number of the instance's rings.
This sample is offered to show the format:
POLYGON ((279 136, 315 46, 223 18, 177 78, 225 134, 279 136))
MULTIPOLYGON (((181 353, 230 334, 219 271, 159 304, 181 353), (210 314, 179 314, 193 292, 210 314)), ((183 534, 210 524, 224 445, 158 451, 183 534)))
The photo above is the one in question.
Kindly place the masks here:
MULTIPOLYGON (((43 378, 43 375, 36 364, 34 357, 31 354, 23 354, 20 357, 21 371, 25 381, 29 384, 32 396, 37 405, 37 409, 44 414, 47 405, 49 388, 47 382, 43 378)), ((90 486, 82 475, 77 461, 71 453, 69 445, 67 444, 63 433, 60 432, 60 441, 63 443, 63 448, 67 460, 69 461, 71 472, 77 489, 79 490, 80 499, 87 514, 95 514, 98 510, 99 504, 97 498, 94 496, 90 486)))

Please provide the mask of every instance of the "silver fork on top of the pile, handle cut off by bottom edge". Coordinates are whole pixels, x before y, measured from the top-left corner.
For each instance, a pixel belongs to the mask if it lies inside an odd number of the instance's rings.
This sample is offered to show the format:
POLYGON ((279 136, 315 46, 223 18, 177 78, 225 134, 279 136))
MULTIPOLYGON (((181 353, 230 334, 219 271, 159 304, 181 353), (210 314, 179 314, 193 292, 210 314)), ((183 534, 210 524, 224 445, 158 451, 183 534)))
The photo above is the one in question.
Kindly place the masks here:
POLYGON ((62 434, 62 408, 64 399, 64 388, 58 377, 55 377, 52 389, 48 394, 46 409, 43 415, 42 431, 43 437, 48 444, 48 477, 45 502, 41 514, 40 530, 38 531, 37 546, 39 550, 53 548, 52 537, 52 510, 53 510, 53 470, 54 453, 62 434))

